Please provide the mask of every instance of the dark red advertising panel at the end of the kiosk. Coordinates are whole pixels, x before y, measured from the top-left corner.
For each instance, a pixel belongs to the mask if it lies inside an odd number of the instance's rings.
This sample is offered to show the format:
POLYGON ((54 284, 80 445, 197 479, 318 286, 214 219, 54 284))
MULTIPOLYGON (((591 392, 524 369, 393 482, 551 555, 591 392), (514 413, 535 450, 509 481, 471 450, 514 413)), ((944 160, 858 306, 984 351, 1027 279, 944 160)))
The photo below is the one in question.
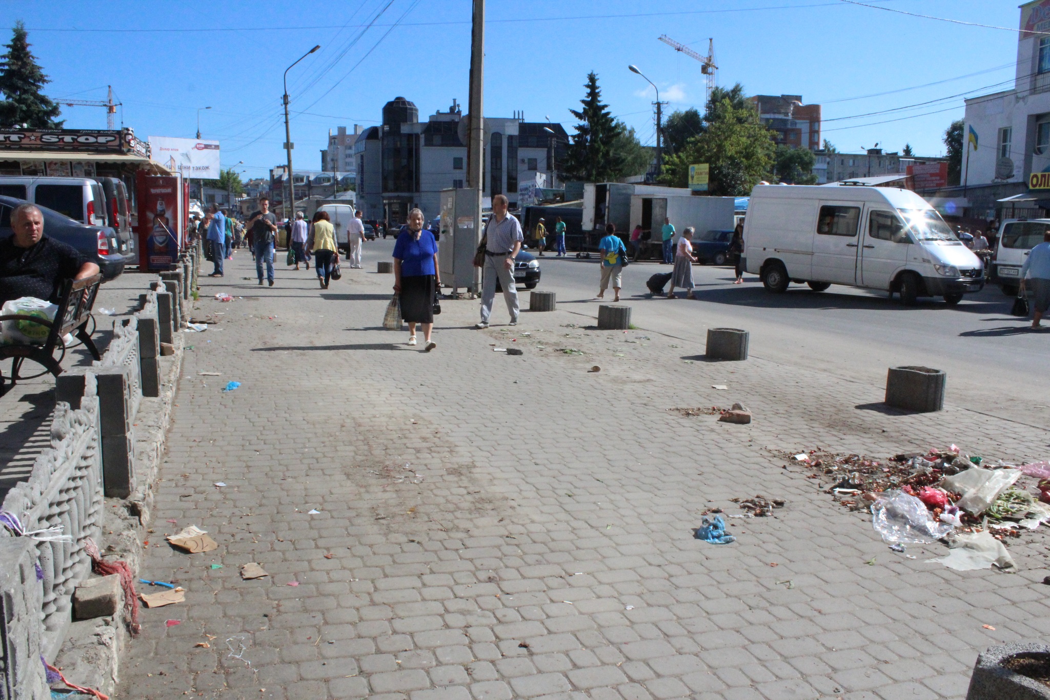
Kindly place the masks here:
POLYGON ((170 270, 178 259, 185 228, 183 178, 139 171, 139 267, 170 270))

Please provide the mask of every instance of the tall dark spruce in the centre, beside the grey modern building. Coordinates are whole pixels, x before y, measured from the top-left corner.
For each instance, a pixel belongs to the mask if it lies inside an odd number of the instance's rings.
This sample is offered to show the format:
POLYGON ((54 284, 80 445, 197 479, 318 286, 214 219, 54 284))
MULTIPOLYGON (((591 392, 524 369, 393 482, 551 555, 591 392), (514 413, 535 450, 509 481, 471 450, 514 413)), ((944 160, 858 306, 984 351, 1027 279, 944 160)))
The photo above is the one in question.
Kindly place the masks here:
POLYGON ((569 110, 581 123, 574 127, 576 132, 566 149, 560 174, 564 179, 601 183, 620 174, 613 146, 621 136, 622 128, 617 128, 616 121, 607 109, 609 105, 602 102, 602 89, 593 71, 587 73, 585 87, 587 97, 580 101, 583 109, 569 110))

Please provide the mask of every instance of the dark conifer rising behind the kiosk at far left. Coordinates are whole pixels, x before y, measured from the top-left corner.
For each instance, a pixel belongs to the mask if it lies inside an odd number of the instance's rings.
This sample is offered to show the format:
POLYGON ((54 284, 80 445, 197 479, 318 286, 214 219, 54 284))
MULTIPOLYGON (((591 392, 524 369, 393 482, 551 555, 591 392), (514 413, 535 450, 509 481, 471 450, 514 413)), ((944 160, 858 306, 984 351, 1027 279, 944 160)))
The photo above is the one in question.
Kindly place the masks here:
POLYGON ((34 129, 61 129, 64 121, 56 121, 61 110, 57 104, 41 94, 40 89, 50 82, 37 60, 29 52, 25 25, 15 23, 14 36, 7 52, 0 56, 0 128, 18 129, 23 124, 34 129))

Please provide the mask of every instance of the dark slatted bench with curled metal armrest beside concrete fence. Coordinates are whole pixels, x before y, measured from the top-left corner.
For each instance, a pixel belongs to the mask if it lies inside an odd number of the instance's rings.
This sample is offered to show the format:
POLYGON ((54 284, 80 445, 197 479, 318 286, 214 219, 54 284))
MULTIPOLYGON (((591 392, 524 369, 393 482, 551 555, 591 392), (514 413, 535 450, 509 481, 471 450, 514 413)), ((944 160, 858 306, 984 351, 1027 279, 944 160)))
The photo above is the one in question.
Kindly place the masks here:
POLYGON ((102 283, 102 275, 96 275, 86 279, 67 279, 62 284, 62 294, 59 298, 59 310, 55 313, 55 320, 48 321, 37 316, 25 316, 21 314, 0 316, 0 321, 29 321, 49 328, 47 339, 43 345, 0 345, 0 361, 12 358, 10 377, 4 377, 0 372, 0 397, 7 394, 19 380, 36 379, 48 372, 58 377, 62 374, 62 360, 65 358, 66 344, 62 340, 66 335, 72 334, 79 339, 84 347, 88 349, 96 360, 101 360, 99 348, 91 340, 91 332, 88 332, 88 323, 92 322, 91 309, 94 306, 94 297, 99 294, 99 284, 102 283), (22 362, 33 360, 44 367, 43 372, 23 377, 19 374, 22 362))

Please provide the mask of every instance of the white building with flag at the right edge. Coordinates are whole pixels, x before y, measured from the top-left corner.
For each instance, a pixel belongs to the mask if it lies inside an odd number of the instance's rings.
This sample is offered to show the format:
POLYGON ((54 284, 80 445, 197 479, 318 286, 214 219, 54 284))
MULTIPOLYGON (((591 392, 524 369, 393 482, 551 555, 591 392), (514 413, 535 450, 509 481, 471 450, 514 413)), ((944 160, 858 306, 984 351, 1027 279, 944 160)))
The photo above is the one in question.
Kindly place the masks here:
POLYGON ((1001 216, 998 200, 1017 194, 1032 197, 1018 207, 1050 207, 1050 36, 1032 34, 1050 31, 1050 0, 1022 5, 1020 28, 1013 87, 966 101, 961 189, 971 216, 1001 216))

